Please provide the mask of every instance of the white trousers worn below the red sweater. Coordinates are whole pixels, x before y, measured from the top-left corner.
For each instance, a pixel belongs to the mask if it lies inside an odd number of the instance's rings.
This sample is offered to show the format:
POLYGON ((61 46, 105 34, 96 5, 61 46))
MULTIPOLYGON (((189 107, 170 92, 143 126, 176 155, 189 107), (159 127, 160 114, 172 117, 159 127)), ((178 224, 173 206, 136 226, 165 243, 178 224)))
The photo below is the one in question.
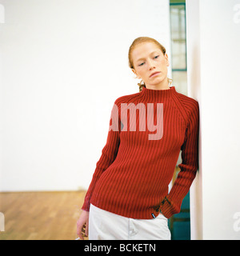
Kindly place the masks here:
POLYGON ((89 240, 170 240, 167 218, 126 218, 90 205, 89 240))

